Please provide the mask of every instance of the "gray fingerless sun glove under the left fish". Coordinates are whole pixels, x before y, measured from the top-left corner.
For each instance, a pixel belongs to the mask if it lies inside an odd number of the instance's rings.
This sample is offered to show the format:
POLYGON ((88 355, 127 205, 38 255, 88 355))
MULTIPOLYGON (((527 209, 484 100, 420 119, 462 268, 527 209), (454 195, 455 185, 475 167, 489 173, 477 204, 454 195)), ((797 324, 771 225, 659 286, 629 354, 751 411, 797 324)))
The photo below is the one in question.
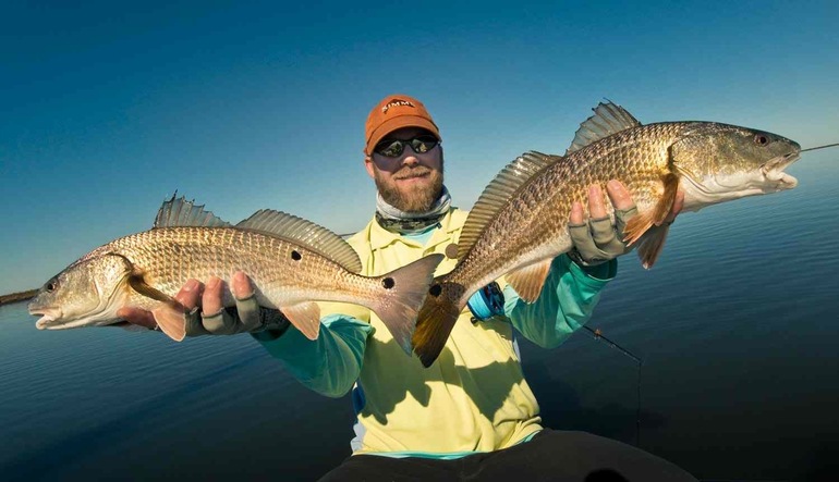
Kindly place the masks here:
POLYGON ((198 309, 184 313, 186 336, 284 331, 289 326, 289 320, 280 310, 260 307, 253 295, 236 298, 235 301, 235 308, 222 308, 211 314, 205 314, 198 309))

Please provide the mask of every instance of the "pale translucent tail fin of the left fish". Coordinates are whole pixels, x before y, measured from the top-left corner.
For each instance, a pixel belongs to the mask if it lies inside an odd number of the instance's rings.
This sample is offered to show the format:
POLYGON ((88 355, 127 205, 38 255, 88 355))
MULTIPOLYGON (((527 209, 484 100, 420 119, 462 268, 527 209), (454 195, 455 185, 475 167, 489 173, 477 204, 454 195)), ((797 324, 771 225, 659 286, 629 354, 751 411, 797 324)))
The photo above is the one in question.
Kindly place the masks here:
POLYGON ((443 255, 429 255, 410 264, 375 277, 386 295, 379 296, 369 308, 376 312, 393 339, 410 356, 411 338, 416 329, 420 307, 434 280, 434 270, 443 255))

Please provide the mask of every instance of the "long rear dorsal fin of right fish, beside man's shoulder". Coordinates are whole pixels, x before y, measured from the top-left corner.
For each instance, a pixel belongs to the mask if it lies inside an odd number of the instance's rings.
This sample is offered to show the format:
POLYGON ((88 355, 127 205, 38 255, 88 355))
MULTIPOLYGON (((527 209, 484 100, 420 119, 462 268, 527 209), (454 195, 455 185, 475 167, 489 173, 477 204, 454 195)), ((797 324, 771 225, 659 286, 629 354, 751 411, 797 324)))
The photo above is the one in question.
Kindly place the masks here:
POLYGON ((487 224, 495 219, 498 211, 507 206, 513 195, 527 181, 559 159, 562 158, 530 151, 507 164, 493 182, 484 188, 481 197, 478 197, 475 206, 470 211, 458 240, 458 259, 463 259, 487 224))

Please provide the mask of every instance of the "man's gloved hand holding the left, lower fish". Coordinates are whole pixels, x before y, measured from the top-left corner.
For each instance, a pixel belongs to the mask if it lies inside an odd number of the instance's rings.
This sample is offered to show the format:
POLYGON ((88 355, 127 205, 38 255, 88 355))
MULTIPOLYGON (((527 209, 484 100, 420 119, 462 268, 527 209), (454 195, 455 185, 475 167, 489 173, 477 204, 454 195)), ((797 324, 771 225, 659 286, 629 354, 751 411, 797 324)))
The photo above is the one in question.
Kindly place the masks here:
MULTIPOLYGON (((222 280, 215 276, 210 277, 206 285, 197 280, 189 280, 174 296, 185 308, 183 317, 186 322, 186 336, 232 335, 288 324, 288 320, 279 311, 259 307, 251 280, 242 271, 233 274, 231 283, 236 302, 235 310, 226 309, 222 305, 224 285, 222 280)), ((178 314, 181 314, 180 311, 178 314)), ((121 308, 117 316, 149 330, 157 329, 155 317, 146 310, 121 308)))

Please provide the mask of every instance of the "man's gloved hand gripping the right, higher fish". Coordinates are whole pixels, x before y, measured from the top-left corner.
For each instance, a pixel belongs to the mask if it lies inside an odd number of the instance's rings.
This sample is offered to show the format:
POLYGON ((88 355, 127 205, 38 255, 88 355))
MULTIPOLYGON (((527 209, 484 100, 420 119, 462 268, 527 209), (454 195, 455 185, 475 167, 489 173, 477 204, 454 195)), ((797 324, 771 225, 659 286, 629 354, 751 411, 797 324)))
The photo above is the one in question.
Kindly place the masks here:
MULTIPOLYGON (((603 190, 597 184, 588 187, 588 214, 585 220, 583 206, 574 202, 571 206, 571 218, 568 225, 571 240, 574 244, 568 256, 580 265, 593 267, 605 263, 610 259, 627 254, 634 246, 623 242, 623 228, 627 222, 637 214, 635 201, 629 189, 617 180, 606 184, 606 193, 615 208, 615 224, 611 223, 603 201, 603 190)), ((671 224, 684 205, 684 193, 679 190, 665 224, 671 224)))

